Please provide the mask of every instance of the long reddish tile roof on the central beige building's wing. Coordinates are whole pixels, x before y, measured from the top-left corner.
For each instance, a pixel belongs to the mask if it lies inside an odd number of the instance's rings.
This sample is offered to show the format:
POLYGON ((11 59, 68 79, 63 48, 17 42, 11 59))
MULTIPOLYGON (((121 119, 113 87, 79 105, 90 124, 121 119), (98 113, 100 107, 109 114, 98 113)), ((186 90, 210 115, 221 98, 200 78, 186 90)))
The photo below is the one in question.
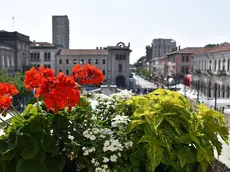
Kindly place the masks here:
POLYGON ((103 49, 62 49, 60 55, 106 55, 107 50, 103 49))

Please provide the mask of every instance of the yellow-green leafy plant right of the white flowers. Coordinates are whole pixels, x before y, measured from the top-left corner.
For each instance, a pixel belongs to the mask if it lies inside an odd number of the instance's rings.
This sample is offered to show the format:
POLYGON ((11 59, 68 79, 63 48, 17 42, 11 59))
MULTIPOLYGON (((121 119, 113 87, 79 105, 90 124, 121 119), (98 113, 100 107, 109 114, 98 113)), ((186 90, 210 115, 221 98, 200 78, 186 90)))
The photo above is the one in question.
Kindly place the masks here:
POLYGON ((218 136, 228 143, 223 115, 205 105, 192 111, 177 92, 158 89, 135 96, 126 102, 127 108, 132 110, 130 130, 138 143, 130 156, 130 171, 153 172, 159 164, 170 171, 193 171, 200 164, 205 172, 214 150, 221 154, 218 136))

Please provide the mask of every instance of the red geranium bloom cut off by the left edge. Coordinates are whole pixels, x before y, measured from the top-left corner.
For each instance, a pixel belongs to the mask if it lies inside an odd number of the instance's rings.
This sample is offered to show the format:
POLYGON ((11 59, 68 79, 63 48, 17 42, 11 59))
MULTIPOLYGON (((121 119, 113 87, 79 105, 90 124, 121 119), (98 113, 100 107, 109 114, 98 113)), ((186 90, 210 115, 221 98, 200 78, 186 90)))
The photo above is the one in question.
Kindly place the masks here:
POLYGON ((14 84, 0 83, 0 112, 10 108, 12 96, 15 94, 18 94, 18 90, 14 84))

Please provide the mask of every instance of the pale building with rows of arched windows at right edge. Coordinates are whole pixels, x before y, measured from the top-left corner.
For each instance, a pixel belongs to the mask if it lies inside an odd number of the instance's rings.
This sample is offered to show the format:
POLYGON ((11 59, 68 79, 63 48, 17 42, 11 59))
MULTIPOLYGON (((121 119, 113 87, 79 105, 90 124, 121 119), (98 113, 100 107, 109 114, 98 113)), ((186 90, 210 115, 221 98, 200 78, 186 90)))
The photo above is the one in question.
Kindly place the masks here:
MULTIPOLYGON (((205 48, 193 55, 193 87, 206 97, 230 98, 230 45, 205 48)), ((230 104, 230 101, 229 101, 230 104)))

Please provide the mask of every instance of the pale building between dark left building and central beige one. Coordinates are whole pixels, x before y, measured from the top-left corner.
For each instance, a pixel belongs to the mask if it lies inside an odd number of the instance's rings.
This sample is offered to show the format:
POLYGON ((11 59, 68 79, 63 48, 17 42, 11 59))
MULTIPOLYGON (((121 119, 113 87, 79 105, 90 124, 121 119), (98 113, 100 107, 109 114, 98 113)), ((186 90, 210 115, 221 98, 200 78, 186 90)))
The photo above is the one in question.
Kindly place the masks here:
POLYGON ((30 62, 35 67, 48 67, 56 70, 56 54, 59 48, 48 42, 33 42, 30 44, 30 62))

